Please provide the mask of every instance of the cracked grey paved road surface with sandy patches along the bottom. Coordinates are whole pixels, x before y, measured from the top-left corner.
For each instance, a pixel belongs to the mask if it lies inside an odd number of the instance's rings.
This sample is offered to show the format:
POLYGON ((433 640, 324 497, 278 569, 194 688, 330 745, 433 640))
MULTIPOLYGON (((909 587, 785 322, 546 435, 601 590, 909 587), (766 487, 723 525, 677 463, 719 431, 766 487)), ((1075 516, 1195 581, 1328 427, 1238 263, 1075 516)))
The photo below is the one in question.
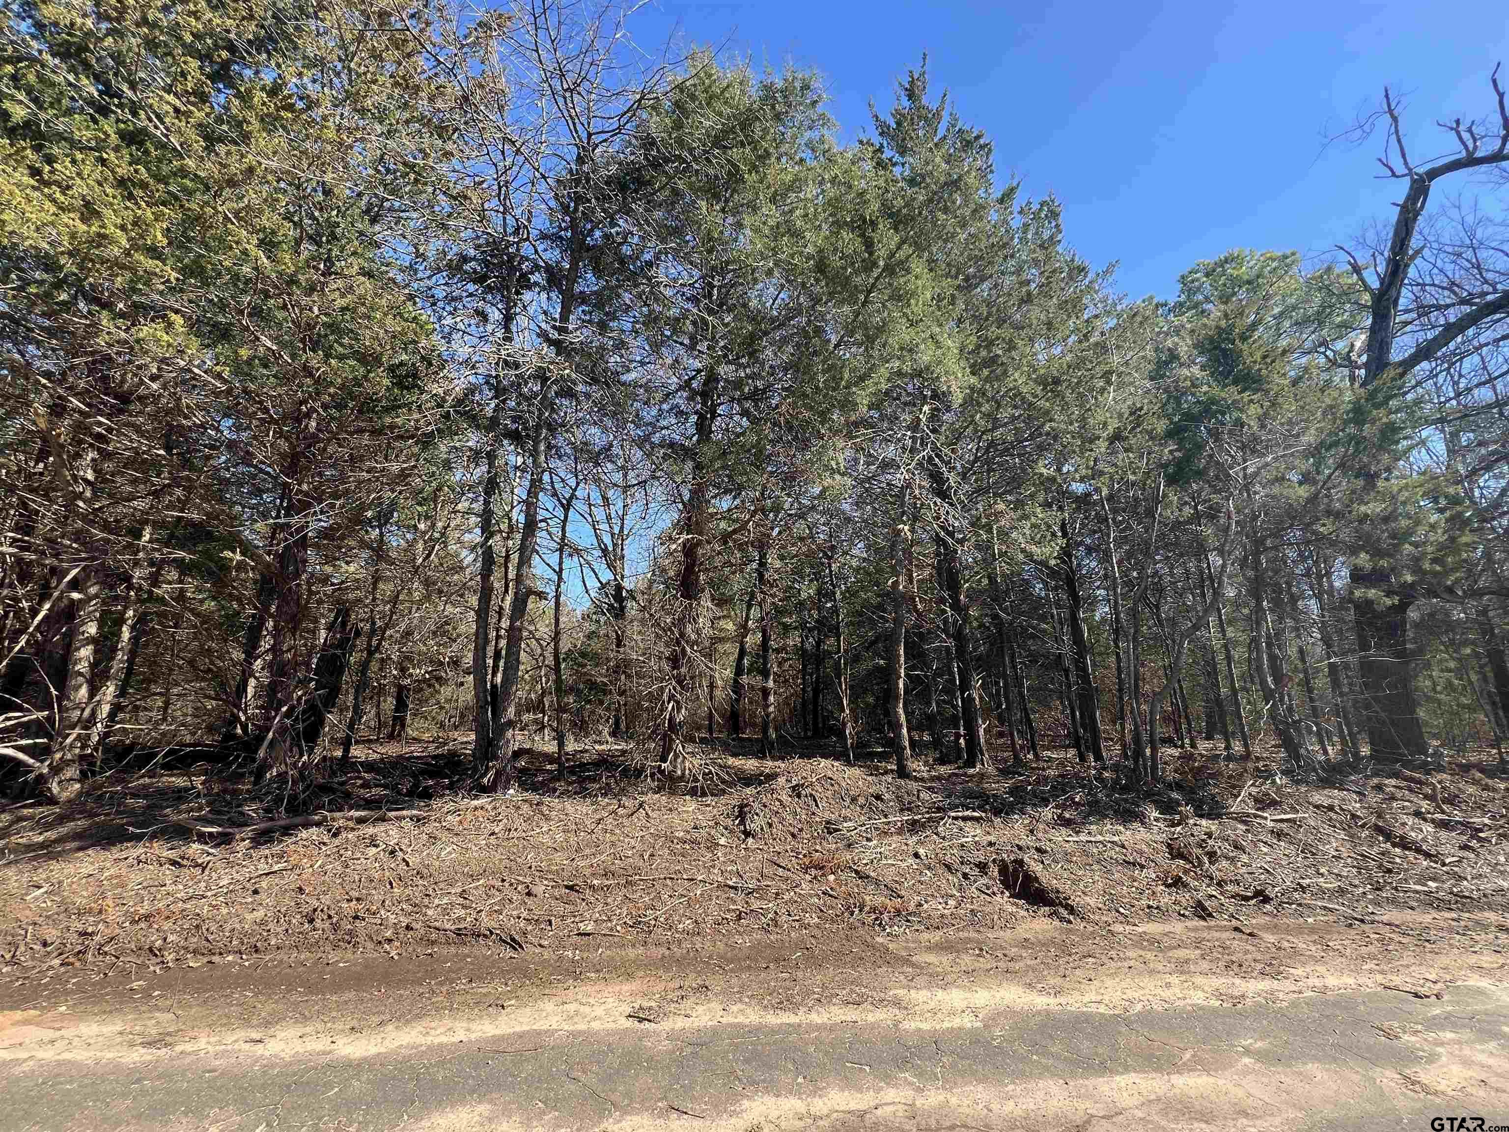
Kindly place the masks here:
POLYGON ((1002 1008, 946 1028, 469 1031, 370 1054, 340 1038, 293 1057, 241 1037, 192 1052, 152 1044, 112 1057, 12 1043, 0 1129, 1424 1132, 1447 1114, 1509 1124, 1509 993, 1491 986, 1120 1014, 1002 1008))

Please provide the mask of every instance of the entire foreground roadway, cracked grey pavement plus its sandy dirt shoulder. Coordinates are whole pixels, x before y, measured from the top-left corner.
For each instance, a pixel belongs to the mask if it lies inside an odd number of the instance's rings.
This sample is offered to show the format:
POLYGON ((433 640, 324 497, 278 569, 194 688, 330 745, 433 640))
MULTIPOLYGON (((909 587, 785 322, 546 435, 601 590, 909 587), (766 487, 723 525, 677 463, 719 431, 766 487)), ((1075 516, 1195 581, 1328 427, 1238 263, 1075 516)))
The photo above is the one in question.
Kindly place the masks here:
POLYGON ((0 1127, 1366 1129, 1509 1111, 1509 921, 1233 927, 856 927, 12 981, 0 1127))

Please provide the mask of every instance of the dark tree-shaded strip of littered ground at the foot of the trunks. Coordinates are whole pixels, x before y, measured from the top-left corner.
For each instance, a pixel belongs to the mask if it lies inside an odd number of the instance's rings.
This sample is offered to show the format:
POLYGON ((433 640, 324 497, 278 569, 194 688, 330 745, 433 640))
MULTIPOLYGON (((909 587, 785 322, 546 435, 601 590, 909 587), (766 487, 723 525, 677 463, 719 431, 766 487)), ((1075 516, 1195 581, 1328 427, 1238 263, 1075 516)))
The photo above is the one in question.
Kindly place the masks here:
MULTIPOLYGON (((767 785, 798 761, 845 761, 831 741, 800 738, 783 738, 768 755, 754 738, 702 741, 690 753, 699 767, 696 782, 675 785, 656 774, 653 750, 644 744, 601 743, 569 750, 564 773, 554 747, 525 746, 518 755, 516 789, 539 800, 598 798, 617 807, 656 791, 715 800, 767 785)), ((874 744, 856 749, 854 768, 875 777, 895 774, 889 747, 874 744)), ((1227 761, 1219 744, 1209 743, 1166 749, 1165 780, 1156 786, 1130 780, 1120 770, 1093 768, 1071 749, 1044 749, 1041 759, 1020 765, 1002 753, 985 770, 940 764, 928 747, 919 747, 913 756, 913 776, 930 795, 927 809, 1000 818, 1035 815, 1059 829, 1097 821, 1145 823, 1153 815, 1219 817, 1231 807, 1233 783, 1284 779, 1277 752, 1265 752, 1249 767, 1227 761)), ((1421 776, 1444 770, 1429 764, 1337 762, 1307 779, 1310 785, 1364 795, 1370 779, 1405 777, 1418 785, 1421 776)), ((1488 753, 1452 770, 1504 777, 1488 753)), ((189 817, 244 826, 324 812, 424 811, 471 794, 469 734, 359 744, 350 762, 324 764, 318 777, 302 788, 282 780, 258 782, 249 758, 237 753, 226 758, 214 747, 142 749, 118 753, 116 765, 91 779, 77 801, 65 806, 33 801, 0 811, 0 845, 24 827, 24 856, 50 859, 148 836, 192 841, 196 835, 175 824, 189 817)), ((281 835, 272 830, 261 836, 281 835)))

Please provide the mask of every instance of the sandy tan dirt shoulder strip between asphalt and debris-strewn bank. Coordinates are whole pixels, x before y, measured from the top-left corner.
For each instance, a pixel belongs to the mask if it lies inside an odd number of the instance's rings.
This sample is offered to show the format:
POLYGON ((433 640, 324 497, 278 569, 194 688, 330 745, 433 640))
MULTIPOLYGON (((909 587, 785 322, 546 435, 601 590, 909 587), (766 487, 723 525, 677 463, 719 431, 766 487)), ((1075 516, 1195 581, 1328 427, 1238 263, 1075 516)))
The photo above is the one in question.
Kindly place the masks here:
POLYGON ((1375 925, 1065 925, 887 939, 868 928, 748 943, 622 940, 518 954, 472 945, 397 958, 279 955, 12 980, 0 1060, 155 1060, 255 1046, 365 1057, 536 1029, 978 1025, 997 1010, 1129 1013, 1388 990, 1509 986, 1509 918, 1403 913, 1375 925))

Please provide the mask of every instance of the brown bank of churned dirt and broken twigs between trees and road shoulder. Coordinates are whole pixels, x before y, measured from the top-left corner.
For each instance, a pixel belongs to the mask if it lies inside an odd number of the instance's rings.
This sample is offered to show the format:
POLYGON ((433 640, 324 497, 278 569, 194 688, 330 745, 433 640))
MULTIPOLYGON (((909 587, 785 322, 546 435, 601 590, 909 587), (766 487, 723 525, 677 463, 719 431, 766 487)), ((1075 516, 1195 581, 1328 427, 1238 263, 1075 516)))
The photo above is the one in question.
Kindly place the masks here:
MULTIPOLYGON (((1251 963, 1259 922, 1340 933, 1263 960, 1299 969, 1326 949, 1385 958, 1403 940, 1500 955, 1509 913, 1509 780, 1489 758, 1296 783, 1172 752, 1168 786, 1142 789, 1062 753, 1022 773, 927 767, 899 782, 883 752, 847 767, 831 752, 738 747, 706 752, 723 773, 687 795, 647 782, 632 752, 593 749, 563 782, 552 753, 530 752, 518 794, 469 797, 454 789, 465 749, 361 749, 303 800, 326 824, 258 835, 180 824, 246 826, 287 804, 205 765, 119 770, 72 806, 0 814, 8 998, 199 967, 433 963, 457 948, 521 971, 598 955, 611 974, 616 946, 641 966, 646 946, 791 955, 809 939, 863 964, 902 961, 916 940, 948 954, 954 936, 1040 930, 1056 963, 1073 924, 1102 940, 1210 930, 1251 963)), ((1191 955, 1197 974, 1206 951, 1191 955)), ((789 971, 750 993, 821 993, 789 971)))

